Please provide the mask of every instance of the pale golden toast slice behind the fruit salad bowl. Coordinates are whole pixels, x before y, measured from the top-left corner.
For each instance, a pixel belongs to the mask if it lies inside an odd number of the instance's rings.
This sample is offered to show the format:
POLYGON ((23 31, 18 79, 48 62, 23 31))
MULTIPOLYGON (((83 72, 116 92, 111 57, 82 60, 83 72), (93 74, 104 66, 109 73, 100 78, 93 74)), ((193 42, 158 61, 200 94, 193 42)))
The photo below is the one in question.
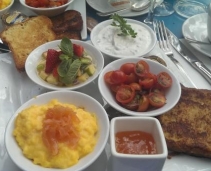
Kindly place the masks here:
POLYGON ((46 16, 32 17, 20 24, 14 24, 0 34, 2 41, 12 52, 16 68, 25 70, 25 61, 36 47, 55 40, 52 21, 46 16))

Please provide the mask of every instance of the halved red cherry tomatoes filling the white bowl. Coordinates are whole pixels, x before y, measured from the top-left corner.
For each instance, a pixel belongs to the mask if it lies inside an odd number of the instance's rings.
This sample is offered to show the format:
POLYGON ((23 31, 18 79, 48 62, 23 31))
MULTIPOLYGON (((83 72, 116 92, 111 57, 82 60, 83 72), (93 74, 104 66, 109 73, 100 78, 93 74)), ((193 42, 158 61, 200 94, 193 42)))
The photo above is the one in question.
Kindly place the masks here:
POLYGON ((172 78, 167 72, 151 73, 144 60, 124 63, 118 70, 107 72, 104 80, 121 106, 137 112, 164 106, 165 91, 172 85, 172 78))

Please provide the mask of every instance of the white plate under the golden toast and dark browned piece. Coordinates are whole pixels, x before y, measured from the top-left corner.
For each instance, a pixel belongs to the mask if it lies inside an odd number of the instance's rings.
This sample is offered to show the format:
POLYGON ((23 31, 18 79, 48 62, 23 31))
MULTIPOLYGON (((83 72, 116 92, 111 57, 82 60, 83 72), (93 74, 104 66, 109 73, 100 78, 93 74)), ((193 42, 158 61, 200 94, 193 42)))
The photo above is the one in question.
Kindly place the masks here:
MULTIPOLYGON (((81 38, 84 40, 87 38, 87 25, 86 25, 86 0, 74 0, 74 2, 67 8, 67 10, 74 9, 81 13, 83 19, 83 29, 81 31, 81 38)), ((10 11, 21 11, 25 15, 36 15, 32 11, 27 8, 24 8, 19 1, 15 0, 15 3, 11 7, 10 11)), ((0 22, 0 31, 2 30, 3 26, 0 22)))

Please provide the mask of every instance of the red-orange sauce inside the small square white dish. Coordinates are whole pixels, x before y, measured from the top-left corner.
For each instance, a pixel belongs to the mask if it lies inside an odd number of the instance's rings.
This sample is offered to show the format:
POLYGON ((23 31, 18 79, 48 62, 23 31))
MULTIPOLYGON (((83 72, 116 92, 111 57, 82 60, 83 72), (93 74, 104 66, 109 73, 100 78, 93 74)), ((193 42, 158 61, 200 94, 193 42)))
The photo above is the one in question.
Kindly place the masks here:
POLYGON ((123 131, 115 135, 116 151, 124 154, 156 154, 153 136, 142 131, 123 131))

